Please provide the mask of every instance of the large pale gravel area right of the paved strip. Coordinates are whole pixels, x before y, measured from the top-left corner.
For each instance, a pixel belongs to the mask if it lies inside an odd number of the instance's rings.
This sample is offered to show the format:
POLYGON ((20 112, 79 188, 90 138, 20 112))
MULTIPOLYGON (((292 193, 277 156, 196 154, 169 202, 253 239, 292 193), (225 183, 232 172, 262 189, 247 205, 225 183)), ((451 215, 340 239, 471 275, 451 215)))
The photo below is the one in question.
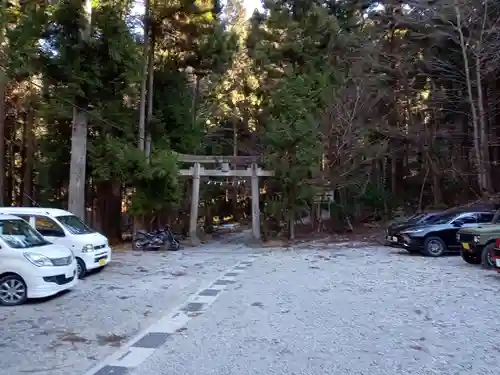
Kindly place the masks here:
POLYGON ((133 374, 496 374, 499 286, 460 257, 273 251, 133 374))

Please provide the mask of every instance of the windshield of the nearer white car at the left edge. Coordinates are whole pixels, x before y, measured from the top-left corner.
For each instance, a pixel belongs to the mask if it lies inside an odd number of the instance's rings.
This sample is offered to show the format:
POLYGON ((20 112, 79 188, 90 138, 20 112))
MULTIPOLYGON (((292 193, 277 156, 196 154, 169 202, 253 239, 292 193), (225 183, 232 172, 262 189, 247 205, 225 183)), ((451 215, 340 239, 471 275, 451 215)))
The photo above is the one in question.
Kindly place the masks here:
POLYGON ((50 244, 24 220, 0 220, 0 238, 14 249, 50 244))

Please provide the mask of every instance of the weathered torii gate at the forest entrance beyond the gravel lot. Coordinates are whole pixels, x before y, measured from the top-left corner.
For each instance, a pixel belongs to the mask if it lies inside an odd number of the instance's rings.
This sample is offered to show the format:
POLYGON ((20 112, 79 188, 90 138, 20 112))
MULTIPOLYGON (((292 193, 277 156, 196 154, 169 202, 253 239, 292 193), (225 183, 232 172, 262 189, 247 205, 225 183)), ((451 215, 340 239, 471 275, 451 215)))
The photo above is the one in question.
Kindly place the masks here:
POLYGON ((193 178, 193 189, 191 198, 191 216, 189 221, 189 237, 193 245, 200 243, 196 235, 198 224, 198 205, 200 201, 200 178, 210 177, 249 177, 252 182, 252 237, 260 240, 260 206, 259 206, 259 177, 274 176, 273 171, 266 171, 258 167, 255 156, 205 156, 205 155, 179 155, 178 160, 182 163, 192 163, 189 169, 181 169, 181 176, 193 178), (201 164, 218 164, 221 169, 205 169, 201 164), (231 169, 230 166, 248 165, 246 169, 231 169))

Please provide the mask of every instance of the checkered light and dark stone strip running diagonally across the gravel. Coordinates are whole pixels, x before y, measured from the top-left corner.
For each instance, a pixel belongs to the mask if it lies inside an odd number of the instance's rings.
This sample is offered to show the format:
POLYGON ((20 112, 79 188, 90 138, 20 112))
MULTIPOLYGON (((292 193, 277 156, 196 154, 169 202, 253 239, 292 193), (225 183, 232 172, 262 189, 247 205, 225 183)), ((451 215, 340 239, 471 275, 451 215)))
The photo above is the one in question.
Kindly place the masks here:
POLYGON ((87 371, 85 375, 127 375, 155 350, 168 342, 169 337, 181 330, 192 318, 195 318, 210 307, 228 285, 236 282, 236 278, 250 267, 260 254, 249 254, 248 259, 236 263, 223 272, 209 286, 192 294, 182 305, 145 331, 136 335, 124 344, 117 352, 87 371))

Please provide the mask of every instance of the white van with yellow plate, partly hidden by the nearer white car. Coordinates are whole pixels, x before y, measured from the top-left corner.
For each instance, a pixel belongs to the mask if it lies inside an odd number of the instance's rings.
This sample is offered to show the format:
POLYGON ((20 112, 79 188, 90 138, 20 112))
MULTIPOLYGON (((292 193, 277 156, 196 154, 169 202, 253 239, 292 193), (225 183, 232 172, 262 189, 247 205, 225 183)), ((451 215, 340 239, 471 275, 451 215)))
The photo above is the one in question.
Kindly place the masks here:
POLYGON ((108 239, 71 212, 57 208, 0 207, 0 214, 19 216, 48 241, 69 248, 76 257, 78 278, 111 261, 108 239))

